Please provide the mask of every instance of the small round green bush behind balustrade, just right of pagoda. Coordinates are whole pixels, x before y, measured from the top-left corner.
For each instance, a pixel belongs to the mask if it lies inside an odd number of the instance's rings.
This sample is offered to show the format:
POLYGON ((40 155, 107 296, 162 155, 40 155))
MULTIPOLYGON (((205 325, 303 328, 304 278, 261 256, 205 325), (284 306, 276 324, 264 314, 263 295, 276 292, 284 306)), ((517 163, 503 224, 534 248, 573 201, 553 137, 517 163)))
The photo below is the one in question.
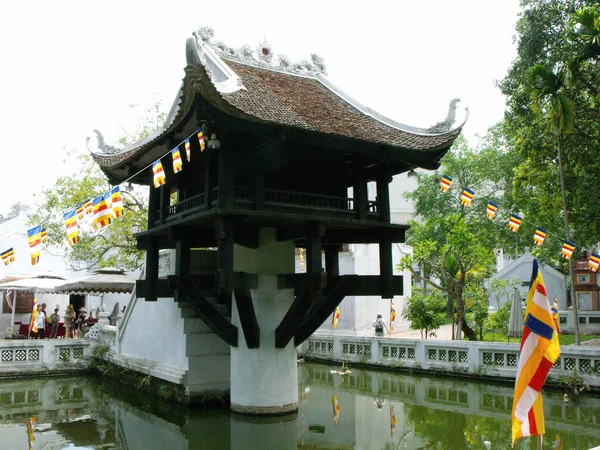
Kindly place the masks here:
POLYGON ((440 294, 424 294, 415 289, 408 298, 402 317, 410 322, 411 330, 419 330, 421 338, 435 336, 435 331, 444 324, 444 305, 440 294))

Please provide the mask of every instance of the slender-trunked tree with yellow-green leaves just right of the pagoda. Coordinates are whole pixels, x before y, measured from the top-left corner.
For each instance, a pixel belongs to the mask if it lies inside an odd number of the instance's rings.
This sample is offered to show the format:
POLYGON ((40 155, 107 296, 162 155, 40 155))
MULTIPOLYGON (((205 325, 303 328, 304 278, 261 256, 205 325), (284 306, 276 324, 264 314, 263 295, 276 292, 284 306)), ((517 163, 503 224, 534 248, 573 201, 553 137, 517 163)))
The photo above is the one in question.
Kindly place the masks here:
MULTIPOLYGON (((407 237, 413 254, 405 256, 399 268, 448 296, 456 311, 456 338, 462 332, 468 339, 477 338, 467 321, 465 292, 467 288, 481 290, 494 266, 493 250, 509 247, 508 253, 517 252, 525 243, 522 235, 510 233, 508 227, 486 216, 488 201, 502 204, 506 211, 512 205, 509 187, 514 154, 502 145, 497 129, 491 133, 495 135, 484 140, 479 151, 472 151, 460 139, 442 159, 444 171, 452 176, 451 192, 440 192, 441 174, 435 173, 419 175, 417 189, 407 194, 418 220, 410 223, 407 237), (475 191, 470 207, 459 200, 466 188, 475 191), (417 271, 417 267, 424 270, 417 271)), ((501 214, 506 216, 506 211, 501 214)))

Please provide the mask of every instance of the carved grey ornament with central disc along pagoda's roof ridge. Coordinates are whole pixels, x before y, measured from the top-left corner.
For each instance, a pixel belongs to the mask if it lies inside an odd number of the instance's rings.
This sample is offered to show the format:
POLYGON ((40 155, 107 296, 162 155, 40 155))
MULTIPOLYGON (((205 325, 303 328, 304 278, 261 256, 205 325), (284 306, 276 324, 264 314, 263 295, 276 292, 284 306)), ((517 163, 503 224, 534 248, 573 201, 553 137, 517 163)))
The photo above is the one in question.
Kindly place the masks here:
POLYGON ((203 46, 210 47, 218 56, 240 62, 242 64, 250 64, 253 66, 263 67, 271 70, 278 70, 297 75, 327 75, 325 60, 316 53, 310 55, 311 60, 302 60, 297 63, 292 63, 290 59, 279 54, 275 57, 271 44, 263 38, 259 42, 256 50, 253 50, 249 45, 242 45, 235 49, 229 47, 223 41, 213 41, 214 31, 211 27, 204 26, 194 31, 193 36, 196 39, 198 48, 203 46))

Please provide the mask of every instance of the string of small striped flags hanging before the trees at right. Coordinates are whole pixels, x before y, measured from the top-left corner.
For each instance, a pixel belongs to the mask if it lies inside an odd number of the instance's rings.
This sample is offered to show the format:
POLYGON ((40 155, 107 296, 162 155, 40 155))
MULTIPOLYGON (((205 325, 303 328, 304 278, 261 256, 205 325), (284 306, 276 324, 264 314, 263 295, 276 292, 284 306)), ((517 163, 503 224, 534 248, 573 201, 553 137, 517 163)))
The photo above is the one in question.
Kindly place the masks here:
MULTIPOLYGON (((442 175, 440 179, 440 190, 443 193, 448 193, 450 191, 450 187, 452 185, 452 178, 448 175, 442 175)), ((475 192, 471 189, 464 189, 460 198, 461 205, 465 207, 471 206, 473 199, 475 198, 475 192)), ((494 202, 488 202, 486 207, 486 215, 490 220, 494 220, 496 218, 496 214, 498 212, 499 206, 494 202)), ((517 233, 519 231, 519 227, 521 226, 521 222, 523 222, 523 218, 518 214, 510 214, 508 219, 508 228, 517 233)), ((548 232, 543 228, 536 228, 535 233, 533 235, 533 242, 538 247, 541 247, 548 236, 548 232)), ((573 253, 575 252, 575 248, 577 246, 572 242, 563 240, 563 245, 561 249, 561 257, 564 259, 571 259, 573 253)), ((589 256, 589 269, 593 272, 598 271, 600 267, 600 255, 596 252, 592 252, 589 256)))

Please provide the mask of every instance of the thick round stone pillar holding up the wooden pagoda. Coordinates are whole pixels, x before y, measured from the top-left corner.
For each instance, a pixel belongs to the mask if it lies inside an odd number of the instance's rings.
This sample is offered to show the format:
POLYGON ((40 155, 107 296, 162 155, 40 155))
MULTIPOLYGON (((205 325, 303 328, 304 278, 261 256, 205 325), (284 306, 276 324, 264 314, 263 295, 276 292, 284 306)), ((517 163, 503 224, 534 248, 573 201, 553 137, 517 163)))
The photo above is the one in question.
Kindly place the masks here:
POLYGON ((234 270, 258 275, 251 290, 260 329, 258 348, 244 339, 236 302, 231 321, 238 327, 238 346, 231 348, 231 409, 245 414, 285 414, 298 410, 297 353, 292 339, 275 347, 275 329, 294 301, 293 289, 278 289, 277 275, 294 273, 294 244, 277 242, 274 228, 260 230, 259 248, 234 248, 234 270))

